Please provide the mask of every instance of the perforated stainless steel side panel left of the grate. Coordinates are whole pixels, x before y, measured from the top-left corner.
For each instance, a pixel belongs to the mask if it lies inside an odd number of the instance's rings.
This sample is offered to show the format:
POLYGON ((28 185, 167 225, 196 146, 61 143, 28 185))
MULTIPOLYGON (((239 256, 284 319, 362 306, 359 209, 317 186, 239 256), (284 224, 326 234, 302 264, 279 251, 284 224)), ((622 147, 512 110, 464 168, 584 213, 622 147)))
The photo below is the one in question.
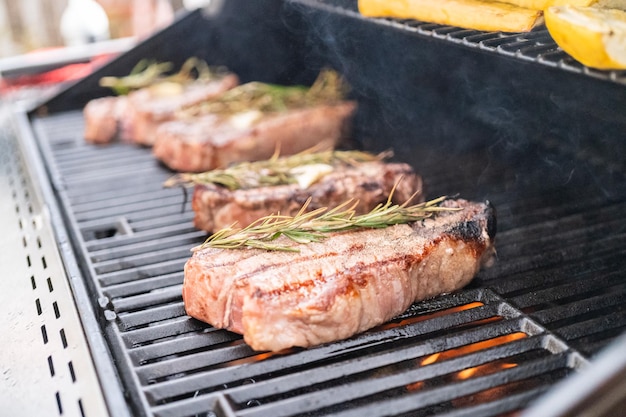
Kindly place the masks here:
POLYGON ((107 416, 50 212, 0 108, 0 410, 107 416))

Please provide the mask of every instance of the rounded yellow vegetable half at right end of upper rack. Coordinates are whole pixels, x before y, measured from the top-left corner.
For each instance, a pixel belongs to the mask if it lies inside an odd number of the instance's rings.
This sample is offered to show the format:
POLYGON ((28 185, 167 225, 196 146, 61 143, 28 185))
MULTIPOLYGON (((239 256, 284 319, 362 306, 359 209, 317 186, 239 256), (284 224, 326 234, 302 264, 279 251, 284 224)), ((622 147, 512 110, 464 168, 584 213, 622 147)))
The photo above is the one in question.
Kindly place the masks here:
POLYGON ((545 10, 554 41, 580 63, 626 69, 626 12, 597 7, 553 6, 545 10))

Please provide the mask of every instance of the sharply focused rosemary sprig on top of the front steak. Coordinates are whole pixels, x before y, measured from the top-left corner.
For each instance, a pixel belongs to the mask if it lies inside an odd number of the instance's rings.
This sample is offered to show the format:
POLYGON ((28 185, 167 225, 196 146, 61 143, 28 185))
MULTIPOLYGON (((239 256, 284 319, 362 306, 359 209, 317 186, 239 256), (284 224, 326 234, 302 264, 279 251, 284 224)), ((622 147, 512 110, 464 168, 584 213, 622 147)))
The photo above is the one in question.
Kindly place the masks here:
POLYGON ((385 204, 379 204, 369 213, 361 215, 355 214, 358 202, 354 200, 348 200, 333 209, 319 208, 307 212, 309 199, 295 216, 273 214, 262 217, 244 228, 234 226, 224 228, 211 235, 202 245, 193 248, 192 251, 205 248, 249 247, 298 252, 299 249, 296 246, 273 242, 280 236, 285 236, 297 243, 318 242, 325 239, 331 232, 385 228, 395 224, 424 220, 440 211, 456 210, 440 206, 447 196, 409 206, 406 202, 400 205, 393 204, 392 194, 393 190, 385 204))

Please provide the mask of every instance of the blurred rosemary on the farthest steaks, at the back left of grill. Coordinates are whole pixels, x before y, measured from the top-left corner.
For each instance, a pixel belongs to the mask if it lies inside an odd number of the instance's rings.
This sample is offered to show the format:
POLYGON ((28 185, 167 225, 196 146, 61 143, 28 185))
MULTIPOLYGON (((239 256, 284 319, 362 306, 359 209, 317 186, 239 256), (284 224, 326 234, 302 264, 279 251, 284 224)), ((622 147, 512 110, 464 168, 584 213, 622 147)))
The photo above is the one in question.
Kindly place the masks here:
POLYGON ((192 57, 187 59, 177 73, 167 76, 172 69, 171 62, 156 62, 142 59, 124 77, 102 77, 100 85, 111 88, 117 95, 125 95, 139 88, 149 87, 160 82, 187 83, 194 79, 211 79, 220 70, 210 68, 206 62, 192 57))

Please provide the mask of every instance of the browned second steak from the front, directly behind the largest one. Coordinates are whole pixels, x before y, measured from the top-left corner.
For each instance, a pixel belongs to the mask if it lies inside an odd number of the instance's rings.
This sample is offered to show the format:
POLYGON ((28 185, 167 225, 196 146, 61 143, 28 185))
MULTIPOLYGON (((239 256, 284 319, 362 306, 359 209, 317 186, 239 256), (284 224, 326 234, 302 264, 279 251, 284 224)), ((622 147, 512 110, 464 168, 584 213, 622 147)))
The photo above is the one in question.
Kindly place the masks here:
POLYGON ((339 166, 318 182, 303 188, 298 184, 229 190, 219 185, 196 185, 192 208, 194 225, 209 232, 237 222, 247 226, 270 214, 296 214, 307 198, 309 209, 334 207, 350 198, 358 198, 357 214, 384 203, 394 185, 393 202, 411 204, 423 201, 422 179, 404 163, 366 162, 356 166, 339 166))

